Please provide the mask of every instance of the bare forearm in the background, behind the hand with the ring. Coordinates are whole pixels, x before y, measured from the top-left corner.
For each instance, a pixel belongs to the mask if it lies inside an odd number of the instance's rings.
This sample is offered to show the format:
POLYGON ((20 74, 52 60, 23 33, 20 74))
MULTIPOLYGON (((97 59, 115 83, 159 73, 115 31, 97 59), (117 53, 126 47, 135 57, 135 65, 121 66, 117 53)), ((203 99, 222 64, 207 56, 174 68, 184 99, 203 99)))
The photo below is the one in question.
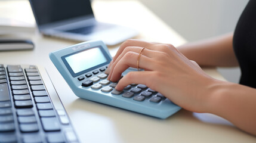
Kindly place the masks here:
POLYGON ((187 43, 178 50, 200 66, 238 66, 233 51, 233 33, 204 41, 187 43))

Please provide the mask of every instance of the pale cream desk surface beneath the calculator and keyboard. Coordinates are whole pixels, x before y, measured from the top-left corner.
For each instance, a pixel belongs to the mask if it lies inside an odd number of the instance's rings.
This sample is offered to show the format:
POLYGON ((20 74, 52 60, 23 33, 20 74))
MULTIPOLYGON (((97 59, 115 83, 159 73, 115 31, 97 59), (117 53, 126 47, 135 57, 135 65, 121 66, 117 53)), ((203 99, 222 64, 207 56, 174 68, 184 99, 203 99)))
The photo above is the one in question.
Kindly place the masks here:
MULTIPOLYGON (((27 1, 0 2, 0 17, 17 17, 23 8, 22 13, 26 13, 24 18, 33 21, 27 1), (19 12, 11 9, 14 7, 19 12), (10 15, 6 14, 7 8, 10 15)), ((133 27, 140 32, 137 39, 172 43, 175 46, 186 42, 138 1, 93 1, 92 6, 97 20, 133 27)), ((22 36, 32 38, 35 49, 0 52, 0 63, 44 66, 82 142, 256 142, 255 136, 236 129, 232 123, 213 114, 181 110, 161 120, 82 100, 73 94, 48 58, 49 52, 77 42, 45 38, 38 32, 22 36)), ((117 47, 109 47, 112 55, 117 47)), ((215 69, 204 70, 224 80, 215 69)))

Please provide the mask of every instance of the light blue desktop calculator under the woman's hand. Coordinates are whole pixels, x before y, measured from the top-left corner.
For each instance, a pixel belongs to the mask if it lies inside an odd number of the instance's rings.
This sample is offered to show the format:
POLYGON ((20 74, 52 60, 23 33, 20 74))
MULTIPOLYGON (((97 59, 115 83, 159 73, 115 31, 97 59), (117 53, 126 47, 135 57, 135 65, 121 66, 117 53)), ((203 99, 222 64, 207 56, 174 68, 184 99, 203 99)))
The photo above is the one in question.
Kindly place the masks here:
MULTIPOLYGON (((131 84, 116 91, 104 73, 112 57, 102 41, 88 41, 50 53, 51 61, 76 96, 137 113, 166 119, 181 109, 146 85, 131 84)), ((129 68, 122 73, 137 71, 129 68)), ((138 71, 139 72, 139 71, 138 71)))

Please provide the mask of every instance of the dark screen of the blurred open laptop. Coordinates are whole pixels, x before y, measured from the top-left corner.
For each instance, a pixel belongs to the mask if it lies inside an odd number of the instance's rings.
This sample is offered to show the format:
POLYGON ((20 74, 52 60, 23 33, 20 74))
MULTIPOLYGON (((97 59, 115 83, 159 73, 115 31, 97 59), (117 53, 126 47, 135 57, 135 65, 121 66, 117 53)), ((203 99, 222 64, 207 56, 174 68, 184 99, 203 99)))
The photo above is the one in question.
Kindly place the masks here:
POLYGON ((90 0, 30 0, 38 25, 93 15, 90 0))

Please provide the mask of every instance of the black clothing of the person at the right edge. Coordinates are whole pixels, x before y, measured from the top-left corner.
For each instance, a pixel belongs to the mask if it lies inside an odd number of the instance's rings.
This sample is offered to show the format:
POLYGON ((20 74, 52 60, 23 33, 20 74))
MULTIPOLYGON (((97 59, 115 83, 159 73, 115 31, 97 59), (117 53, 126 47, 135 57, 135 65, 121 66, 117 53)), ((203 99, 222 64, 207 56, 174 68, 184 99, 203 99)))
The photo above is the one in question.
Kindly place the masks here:
POLYGON ((256 0, 250 0, 239 18, 233 48, 242 72, 240 84, 256 88, 256 0))

